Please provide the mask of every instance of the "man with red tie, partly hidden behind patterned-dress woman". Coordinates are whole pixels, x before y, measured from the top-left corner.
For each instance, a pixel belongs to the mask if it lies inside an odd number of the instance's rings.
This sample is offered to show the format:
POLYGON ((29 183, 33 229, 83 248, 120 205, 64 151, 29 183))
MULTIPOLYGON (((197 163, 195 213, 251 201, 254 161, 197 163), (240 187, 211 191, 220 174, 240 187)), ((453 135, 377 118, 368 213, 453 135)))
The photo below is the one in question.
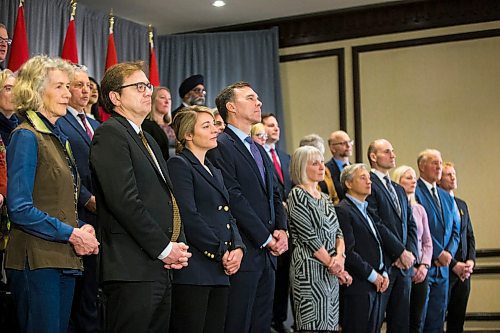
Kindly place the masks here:
MULTIPOLYGON (((280 139, 280 127, 276 116, 272 113, 262 114, 262 124, 266 129, 267 140, 264 149, 274 166, 274 179, 281 193, 281 200, 286 206, 288 194, 292 189, 290 178, 290 155, 276 147, 280 139)), ((278 257, 276 269, 276 283, 274 287, 273 323, 272 327, 278 333, 286 332, 284 322, 288 314, 288 295, 290 289, 290 260, 291 251, 278 257)))

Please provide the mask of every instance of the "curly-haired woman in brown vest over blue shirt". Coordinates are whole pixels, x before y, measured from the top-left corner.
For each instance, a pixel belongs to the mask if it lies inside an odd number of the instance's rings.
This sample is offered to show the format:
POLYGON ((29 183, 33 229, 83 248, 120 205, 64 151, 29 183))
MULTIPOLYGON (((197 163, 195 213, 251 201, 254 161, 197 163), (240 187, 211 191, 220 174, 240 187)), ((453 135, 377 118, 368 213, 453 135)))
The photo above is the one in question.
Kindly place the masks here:
POLYGON ((73 67, 36 56, 14 86, 26 119, 11 136, 7 202, 12 229, 5 268, 22 332, 66 332, 79 256, 99 251, 91 225, 78 220, 80 180, 69 142, 55 125, 66 114, 73 67))

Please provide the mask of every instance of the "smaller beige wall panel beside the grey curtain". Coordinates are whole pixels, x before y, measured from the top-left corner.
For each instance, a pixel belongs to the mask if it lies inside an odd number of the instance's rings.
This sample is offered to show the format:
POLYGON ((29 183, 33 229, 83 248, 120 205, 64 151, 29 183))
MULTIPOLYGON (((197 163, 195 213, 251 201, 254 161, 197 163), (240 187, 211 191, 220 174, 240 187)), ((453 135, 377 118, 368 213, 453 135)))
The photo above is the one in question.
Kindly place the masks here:
MULTIPOLYGON (((339 128, 337 57, 280 64, 286 140, 290 153, 300 139, 317 133, 325 140, 339 128)), ((328 147, 325 147, 328 152, 328 147)), ((328 158, 328 154, 326 154, 328 158)))

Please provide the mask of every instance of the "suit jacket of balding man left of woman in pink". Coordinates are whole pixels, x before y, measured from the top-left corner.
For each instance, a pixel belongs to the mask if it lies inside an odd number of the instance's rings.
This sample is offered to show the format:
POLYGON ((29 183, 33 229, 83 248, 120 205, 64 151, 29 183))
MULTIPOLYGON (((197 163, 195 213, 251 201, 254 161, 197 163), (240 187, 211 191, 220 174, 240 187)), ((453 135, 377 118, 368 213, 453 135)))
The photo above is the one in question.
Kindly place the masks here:
MULTIPOLYGON (((366 198, 368 207, 398 238, 401 244, 417 258, 417 225, 413 219, 413 212, 405 190, 399 184, 391 181, 392 186, 394 186, 396 190, 396 195, 398 196, 399 205, 401 207, 402 217, 399 217, 396 206, 385 184, 380 181, 380 178, 375 173, 370 172, 370 176, 372 180, 372 193, 366 198)), ((391 263, 386 262, 386 264, 391 263)))

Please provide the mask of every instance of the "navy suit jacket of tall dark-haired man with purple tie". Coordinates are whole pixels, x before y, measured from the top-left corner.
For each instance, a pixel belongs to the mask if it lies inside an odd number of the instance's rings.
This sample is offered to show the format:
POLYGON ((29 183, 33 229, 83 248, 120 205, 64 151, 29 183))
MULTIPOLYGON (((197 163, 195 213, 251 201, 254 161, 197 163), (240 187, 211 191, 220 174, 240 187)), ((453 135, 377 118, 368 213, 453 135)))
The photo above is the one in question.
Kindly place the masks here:
POLYGON ((274 230, 286 230, 281 195, 273 179, 274 166, 264 148, 257 144, 266 171, 264 183, 252 155, 229 127, 219 134, 217 143, 207 156, 222 171, 231 211, 247 247, 240 271, 262 267, 266 255, 276 267, 276 257, 261 248, 274 230))

